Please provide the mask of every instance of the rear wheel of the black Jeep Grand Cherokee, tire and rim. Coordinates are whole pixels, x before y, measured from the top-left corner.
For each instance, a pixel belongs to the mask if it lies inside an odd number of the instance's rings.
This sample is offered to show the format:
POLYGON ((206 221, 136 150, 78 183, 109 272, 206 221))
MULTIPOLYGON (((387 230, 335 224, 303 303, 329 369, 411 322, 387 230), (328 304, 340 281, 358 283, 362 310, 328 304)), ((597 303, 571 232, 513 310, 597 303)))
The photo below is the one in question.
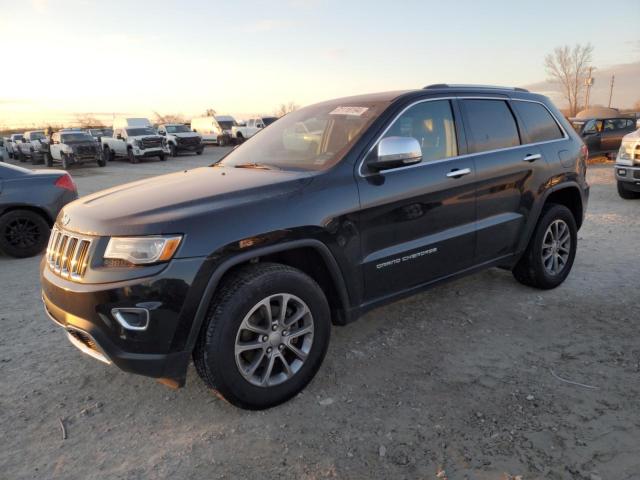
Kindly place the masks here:
POLYGON ((513 276, 530 287, 542 290, 556 288, 571 271, 577 241, 578 228, 571 210, 564 205, 546 205, 527 249, 512 271, 513 276), (554 240, 554 235, 557 240, 554 240))

